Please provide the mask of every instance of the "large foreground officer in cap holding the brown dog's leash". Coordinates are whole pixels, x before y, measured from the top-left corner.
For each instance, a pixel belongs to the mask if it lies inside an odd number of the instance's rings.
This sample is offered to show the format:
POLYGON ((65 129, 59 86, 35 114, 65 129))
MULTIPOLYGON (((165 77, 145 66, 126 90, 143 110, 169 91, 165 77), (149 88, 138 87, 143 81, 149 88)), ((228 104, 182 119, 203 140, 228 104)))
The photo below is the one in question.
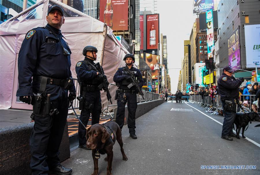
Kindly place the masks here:
POLYGON ((47 175, 49 171, 68 175, 72 169, 60 164, 58 154, 68 115, 68 99, 76 98, 70 71, 71 51, 60 31, 64 23, 62 8, 49 7, 46 20, 46 27, 30 30, 23 40, 18 54, 16 96, 22 102, 35 104, 30 137, 32 174, 47 175))

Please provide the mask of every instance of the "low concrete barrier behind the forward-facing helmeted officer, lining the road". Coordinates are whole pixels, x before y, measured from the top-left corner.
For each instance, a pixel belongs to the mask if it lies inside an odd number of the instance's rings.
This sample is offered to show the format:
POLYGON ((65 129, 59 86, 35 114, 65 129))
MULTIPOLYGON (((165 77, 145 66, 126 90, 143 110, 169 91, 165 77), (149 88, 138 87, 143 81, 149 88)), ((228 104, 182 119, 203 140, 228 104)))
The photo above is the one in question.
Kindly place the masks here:
MULTIPOLYGON (((149 112, 153 108, 159 106, 164 102, 164 99, 159 99, 159 100, 153 100, 153 101, 146 101, 143 103, 138 103, 137 104, 137 109, 135 113, 135 119, 144 115, 145 113, 149 112)), ((116 118, 116 112, 117 108, 114 110, 114 118, 116 118)), ((125 106, 125 125, 127 124, 127 118, 128 118, 128 109, 127 105, 125 106)))

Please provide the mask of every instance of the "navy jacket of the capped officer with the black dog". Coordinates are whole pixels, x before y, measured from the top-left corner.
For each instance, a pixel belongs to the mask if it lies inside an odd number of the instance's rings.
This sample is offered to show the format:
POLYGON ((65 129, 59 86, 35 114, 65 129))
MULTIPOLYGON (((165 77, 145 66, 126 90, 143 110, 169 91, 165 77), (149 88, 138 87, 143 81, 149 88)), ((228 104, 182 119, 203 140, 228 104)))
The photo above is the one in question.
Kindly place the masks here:
POLYGON ((218 79, 218 93, 221 99, 235 99, 239 96, 239 86, 242 84, 240 79, 233 76, 227 76, 222 73, 218 79))

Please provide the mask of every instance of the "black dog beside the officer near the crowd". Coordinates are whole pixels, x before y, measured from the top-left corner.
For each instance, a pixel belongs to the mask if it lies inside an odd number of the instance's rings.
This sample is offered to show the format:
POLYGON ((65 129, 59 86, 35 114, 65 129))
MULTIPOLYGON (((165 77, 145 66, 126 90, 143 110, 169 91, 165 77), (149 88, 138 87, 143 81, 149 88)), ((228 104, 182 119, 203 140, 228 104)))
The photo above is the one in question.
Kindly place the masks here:
MULTIPOLYGON (((240 139, 239 133, 240 129, 242 128, 242 137, 244 136, 244 131, 248 123, 252 123, 252 120, 260 121, 260 117, 256 112, 249 112, 249 113, 237 113, 234 124, 236 125, 236 134, 237 138, 240 139)), ((235 129, 234 125, 233 128, 235 129)))

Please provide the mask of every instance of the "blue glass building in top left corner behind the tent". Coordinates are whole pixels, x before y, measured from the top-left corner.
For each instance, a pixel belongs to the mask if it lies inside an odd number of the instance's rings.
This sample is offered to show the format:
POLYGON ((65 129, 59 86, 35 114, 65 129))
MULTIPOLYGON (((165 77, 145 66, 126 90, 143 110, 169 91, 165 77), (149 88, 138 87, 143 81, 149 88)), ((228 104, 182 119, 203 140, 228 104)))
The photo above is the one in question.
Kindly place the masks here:
MULTIPOLYGON (((36 0, 28 0, 27 8, 36 4, 36 0)), ((12 18, 23 11, 23 0, 1 0, 0 1, 1 18, 0 24, 12 18)))

